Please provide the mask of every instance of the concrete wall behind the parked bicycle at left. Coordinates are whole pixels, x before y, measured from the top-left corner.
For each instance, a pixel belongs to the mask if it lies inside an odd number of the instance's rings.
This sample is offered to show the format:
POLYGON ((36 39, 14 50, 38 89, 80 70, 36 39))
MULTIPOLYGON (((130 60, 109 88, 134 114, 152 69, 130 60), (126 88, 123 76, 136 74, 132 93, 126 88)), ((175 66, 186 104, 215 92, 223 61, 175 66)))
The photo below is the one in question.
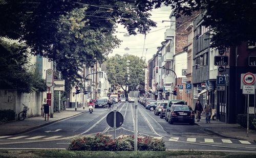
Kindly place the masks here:
POLYGON ((23 110, 24 103, 29 110, 27 117, 41 115, 42 97, 39 92, 18 93, 16 90, 0 90, 0 110, 13 110, 16 114, 23 110))

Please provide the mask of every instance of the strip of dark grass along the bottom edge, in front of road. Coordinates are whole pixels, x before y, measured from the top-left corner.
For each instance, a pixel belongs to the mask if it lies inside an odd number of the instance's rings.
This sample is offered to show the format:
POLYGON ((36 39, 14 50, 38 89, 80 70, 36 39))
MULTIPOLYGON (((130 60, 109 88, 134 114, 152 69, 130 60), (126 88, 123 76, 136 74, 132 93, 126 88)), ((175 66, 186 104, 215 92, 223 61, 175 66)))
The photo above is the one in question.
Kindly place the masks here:
POLYGON ((252 153, 212 151, 0 150, 0 157, 255 157, 252 153))

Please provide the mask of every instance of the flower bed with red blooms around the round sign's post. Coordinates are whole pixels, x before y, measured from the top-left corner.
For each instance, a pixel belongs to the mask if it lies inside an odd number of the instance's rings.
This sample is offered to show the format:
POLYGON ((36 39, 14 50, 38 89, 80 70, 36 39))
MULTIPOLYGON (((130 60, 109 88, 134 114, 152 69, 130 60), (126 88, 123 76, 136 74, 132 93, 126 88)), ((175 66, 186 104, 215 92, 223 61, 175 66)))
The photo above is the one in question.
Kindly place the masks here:
MULTIPOLYGON (((134 136, 112 139, 109 136, 97 134, 95 137, 75 138, 71 141, 68 150, 87 151, 133 151, 134 136)), ((138 138, 138 150, 164 151, 163 140, 152 137, 138 138)))

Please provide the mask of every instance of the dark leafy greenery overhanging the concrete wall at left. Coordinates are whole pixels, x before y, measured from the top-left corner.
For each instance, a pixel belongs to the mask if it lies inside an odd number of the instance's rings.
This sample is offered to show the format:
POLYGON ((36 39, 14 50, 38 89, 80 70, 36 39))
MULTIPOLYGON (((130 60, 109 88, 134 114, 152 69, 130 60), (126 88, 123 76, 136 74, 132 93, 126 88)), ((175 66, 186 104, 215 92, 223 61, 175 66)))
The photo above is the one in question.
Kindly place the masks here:
POLYGON ((35 65, 29 63, 29 52, 24 44, 0 39, 0 88, 19 92, 46 91, 35 65))

